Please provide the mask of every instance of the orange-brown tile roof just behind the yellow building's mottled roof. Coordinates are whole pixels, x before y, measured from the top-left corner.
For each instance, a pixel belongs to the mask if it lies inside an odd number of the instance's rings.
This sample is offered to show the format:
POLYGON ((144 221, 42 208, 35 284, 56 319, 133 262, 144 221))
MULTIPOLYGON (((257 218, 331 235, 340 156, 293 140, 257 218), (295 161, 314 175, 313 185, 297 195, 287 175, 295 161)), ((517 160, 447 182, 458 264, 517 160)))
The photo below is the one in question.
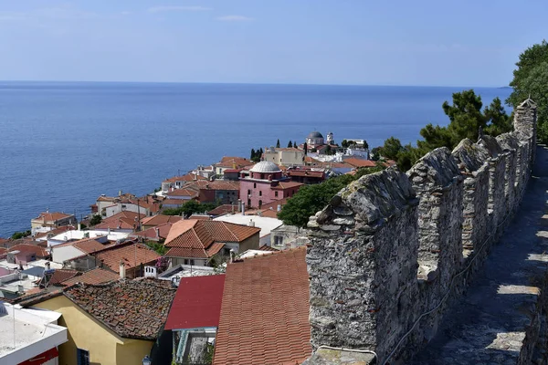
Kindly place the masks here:
POLYGON ((141 264, 154 264, 160 257, 147 245, 136 244, 132 241, 113 245, 92 255, 97 257, 98 263, 102 261, 105 266, 116 273, 120 272, 120 262, 123 262, 128 269, 141 264))

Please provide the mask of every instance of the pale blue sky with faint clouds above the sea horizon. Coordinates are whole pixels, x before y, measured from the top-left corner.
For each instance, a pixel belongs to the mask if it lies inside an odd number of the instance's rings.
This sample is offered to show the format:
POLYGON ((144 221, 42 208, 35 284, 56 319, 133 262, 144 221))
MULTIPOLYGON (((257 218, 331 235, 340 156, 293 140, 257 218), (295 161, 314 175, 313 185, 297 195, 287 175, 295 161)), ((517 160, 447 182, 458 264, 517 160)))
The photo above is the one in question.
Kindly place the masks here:
POLYGON ((0 79, 503 86, 543 1, 0 0, 0 79))

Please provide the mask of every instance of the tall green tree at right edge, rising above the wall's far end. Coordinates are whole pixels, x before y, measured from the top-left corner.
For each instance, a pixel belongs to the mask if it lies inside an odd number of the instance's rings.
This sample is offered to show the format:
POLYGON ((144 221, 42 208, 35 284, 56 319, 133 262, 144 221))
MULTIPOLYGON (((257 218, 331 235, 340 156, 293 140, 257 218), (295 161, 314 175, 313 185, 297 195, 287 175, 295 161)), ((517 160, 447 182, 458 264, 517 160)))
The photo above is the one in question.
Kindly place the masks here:
POLYGON ((506 103, 516 108, 531 97, 537 103, 537 138, 548 143, 548 43, 525 49, 516 63, 510 86, 513 92, 506 103))

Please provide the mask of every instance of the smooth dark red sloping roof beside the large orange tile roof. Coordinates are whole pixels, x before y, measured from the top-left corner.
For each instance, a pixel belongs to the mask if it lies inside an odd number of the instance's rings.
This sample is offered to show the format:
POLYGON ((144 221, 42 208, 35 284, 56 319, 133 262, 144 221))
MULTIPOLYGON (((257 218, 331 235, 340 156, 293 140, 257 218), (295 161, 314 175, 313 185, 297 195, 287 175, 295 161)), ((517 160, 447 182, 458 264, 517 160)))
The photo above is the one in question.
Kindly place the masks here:
POLYGON ((224 287, 224 275, 181 278, 165 329, 218 327, 224 287))

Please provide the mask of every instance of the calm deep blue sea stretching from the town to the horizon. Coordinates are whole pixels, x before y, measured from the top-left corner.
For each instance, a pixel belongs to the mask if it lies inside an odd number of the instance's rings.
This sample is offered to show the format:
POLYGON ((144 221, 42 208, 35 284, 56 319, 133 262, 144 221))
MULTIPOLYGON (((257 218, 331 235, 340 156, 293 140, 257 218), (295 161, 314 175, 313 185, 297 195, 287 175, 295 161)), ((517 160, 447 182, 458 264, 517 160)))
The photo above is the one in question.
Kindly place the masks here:
MULTIPOLYGON (((376 146, 416 141, 463 88, 0 82, 0 237, 101 194, 149 193, 223 155, 248 157, 312 130, 376 146)), ((475 89, 490 102, 509 89, 475 89)))

